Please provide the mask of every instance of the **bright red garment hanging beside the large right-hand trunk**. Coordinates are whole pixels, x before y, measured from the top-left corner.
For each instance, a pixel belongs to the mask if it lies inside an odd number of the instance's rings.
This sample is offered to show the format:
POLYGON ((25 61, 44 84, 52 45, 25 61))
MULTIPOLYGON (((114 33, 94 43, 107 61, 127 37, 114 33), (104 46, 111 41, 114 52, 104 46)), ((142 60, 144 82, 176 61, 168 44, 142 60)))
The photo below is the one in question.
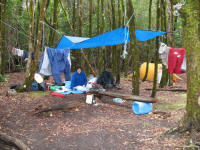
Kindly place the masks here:
POLYGON ((168 72, 170 74, 184 73, 181 70, 181 65, 183 63, 184 56, 185 56, 185 49, 184 48, 170 48, 169 49, 168 72))

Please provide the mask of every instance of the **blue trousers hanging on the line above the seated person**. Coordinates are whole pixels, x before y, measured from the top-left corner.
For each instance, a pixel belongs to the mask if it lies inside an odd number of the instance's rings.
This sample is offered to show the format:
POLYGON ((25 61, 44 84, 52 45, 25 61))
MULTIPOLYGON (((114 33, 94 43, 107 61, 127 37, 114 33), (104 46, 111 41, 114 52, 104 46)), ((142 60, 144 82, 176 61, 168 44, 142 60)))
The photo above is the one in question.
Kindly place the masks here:
POLYGON ((60 75, 64 72, 65 80, 71 80, 71 62, 68 58, 69 49, 53 49, 47 47, 47 54, 51 64, 51 72, 56 85, 62 85, 60 75))

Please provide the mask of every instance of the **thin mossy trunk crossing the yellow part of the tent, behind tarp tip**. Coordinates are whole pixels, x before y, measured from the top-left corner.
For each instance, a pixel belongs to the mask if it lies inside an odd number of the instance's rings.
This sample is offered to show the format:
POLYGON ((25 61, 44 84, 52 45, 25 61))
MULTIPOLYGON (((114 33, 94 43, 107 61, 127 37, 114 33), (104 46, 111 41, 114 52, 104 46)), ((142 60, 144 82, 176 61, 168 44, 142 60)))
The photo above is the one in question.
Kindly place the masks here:
MULTIPOLYGON (((151 7, 152 7, 152 0, 149 0, 149 26, 148 30, 151 30, 151 7)), ((146 81, 147 75, 149 72, 149 62, 150 62, 150 51, 151 51, 151 41, 147 41, 147 65, 146 65, 146 72, 142 81, 146 81)))

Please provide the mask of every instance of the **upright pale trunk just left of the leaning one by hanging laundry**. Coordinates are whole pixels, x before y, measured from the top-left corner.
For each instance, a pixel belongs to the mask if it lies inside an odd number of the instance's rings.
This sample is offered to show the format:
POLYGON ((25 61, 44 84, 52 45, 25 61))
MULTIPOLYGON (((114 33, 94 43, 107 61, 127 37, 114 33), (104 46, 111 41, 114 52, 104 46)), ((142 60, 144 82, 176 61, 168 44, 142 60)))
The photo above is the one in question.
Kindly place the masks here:
POLYGON ((29 2, 29 19, 30 19, 30 24, 29 24, 29 47, 28 47, 28 62, 26 64, 26 77, 29 76, 30 74, 30 68, 31 68, 31 62, 32 62, 32 53, 34 52, 34 1, 30 0, 29 2))

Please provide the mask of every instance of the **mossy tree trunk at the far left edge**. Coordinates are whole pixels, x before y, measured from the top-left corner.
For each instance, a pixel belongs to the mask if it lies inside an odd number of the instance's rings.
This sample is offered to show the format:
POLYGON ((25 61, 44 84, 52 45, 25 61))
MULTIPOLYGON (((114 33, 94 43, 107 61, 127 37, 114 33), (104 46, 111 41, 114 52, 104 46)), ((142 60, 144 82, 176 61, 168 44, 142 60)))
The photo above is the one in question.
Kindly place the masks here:
MULTIPOLYGON (((5 15, 6 15, 6 0, 1 0, 1 20, 5 22, 5 15)), ((1 57, 1 66, 0 66, 0 74, 4 74, 6 71, 6 60, 7 60, 7 50, 5 47, 5 25, 3 22, 0 23, 0 57, 1 57)))

